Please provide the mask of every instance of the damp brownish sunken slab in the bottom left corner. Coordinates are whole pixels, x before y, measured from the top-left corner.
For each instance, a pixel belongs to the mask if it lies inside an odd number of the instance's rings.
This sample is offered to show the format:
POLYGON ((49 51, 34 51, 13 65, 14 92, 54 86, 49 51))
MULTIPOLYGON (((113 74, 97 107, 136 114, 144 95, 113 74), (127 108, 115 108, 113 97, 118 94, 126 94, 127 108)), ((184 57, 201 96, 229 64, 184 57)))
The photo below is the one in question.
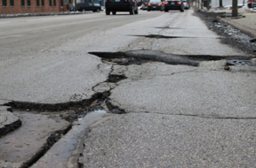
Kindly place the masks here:
POLYGON ((1 137, 1 167, 28 167, 36 158, 42 157, 52 144, 60 140, 71 126, 65 120, 52 119, 38 113, 24 111, 9 113, 15 118, 20 118, 22 126, 1 137))

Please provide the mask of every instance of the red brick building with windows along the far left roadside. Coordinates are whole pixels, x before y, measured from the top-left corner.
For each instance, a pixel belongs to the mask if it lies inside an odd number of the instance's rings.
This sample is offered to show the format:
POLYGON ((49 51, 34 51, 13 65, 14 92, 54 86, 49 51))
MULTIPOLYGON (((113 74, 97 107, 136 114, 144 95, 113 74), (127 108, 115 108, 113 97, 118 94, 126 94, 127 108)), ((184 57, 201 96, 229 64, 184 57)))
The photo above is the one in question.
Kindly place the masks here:
POLYGON ((69 11, 73 0, 0 0, 0 14, 69 11))

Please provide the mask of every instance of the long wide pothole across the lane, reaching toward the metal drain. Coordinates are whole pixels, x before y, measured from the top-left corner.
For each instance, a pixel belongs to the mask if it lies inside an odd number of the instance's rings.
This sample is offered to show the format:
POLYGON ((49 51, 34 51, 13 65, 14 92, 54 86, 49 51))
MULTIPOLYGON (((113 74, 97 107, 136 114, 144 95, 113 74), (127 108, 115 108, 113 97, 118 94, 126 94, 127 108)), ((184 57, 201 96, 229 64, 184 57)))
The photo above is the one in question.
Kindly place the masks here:
POLYGON ((212 56, 212 55, 174 55, 158 50, 133 50, 126 52, 90 52, 101 57, 103 62, 111 62, 116 65, 141 65, 147 62, 164 62, 168 65, 198 66, 202 61, 250 60, 252 57, 242 56, 212 56))

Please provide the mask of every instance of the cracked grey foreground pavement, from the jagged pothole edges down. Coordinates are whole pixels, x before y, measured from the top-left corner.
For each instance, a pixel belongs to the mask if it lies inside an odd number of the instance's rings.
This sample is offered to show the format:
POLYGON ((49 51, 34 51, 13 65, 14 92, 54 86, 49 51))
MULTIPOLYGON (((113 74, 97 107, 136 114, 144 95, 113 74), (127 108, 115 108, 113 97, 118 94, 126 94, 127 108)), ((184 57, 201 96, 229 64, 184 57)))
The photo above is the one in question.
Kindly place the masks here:
POLYGON ((108 80, 92 88, 91 99, 57 104, 57 109, 2 102, 2 133, 19 127, 20 120, 22 126, 1 138, 1 165, 252 166, 253 57, 235 56, 251 62, 237 66, 228 64, 230 56, 157 50, 91 54, 111 65, 108 80))

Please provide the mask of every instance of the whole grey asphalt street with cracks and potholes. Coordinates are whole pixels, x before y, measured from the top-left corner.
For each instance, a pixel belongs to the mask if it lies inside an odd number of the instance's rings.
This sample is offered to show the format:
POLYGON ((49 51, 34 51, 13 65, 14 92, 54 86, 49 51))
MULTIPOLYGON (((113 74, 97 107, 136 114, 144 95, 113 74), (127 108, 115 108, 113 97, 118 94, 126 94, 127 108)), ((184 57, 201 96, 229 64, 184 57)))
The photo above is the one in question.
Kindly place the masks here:
POLYGON ((22 123, 0 138, 1 167, 255 167, 253 56, 192 9, 0 30, 0 111, 22 123))

